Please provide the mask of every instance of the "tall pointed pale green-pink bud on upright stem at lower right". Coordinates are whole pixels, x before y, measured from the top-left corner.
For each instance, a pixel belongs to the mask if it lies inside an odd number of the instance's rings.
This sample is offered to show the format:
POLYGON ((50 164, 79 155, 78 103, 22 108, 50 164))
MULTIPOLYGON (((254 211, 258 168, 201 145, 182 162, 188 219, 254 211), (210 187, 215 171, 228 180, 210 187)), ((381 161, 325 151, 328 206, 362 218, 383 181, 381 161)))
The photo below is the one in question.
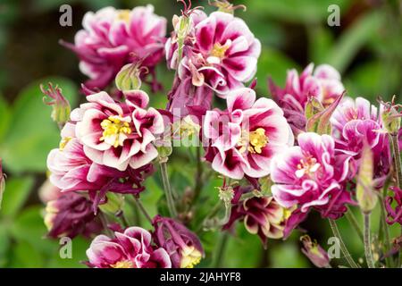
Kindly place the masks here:
POLYGON ((373 151, 368 145, 363 147, 356 198, 360 209, 366 214, 371 213, 378 200, 373 183, 373 151))

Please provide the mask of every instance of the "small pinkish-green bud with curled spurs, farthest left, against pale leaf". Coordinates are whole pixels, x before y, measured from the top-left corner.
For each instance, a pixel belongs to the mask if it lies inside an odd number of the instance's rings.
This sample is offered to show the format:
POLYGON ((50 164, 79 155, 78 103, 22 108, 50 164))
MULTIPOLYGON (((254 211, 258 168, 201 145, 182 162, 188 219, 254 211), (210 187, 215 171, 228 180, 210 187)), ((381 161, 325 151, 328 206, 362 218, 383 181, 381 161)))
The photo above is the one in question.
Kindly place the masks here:
POLYGON ((67 98, 63 96, 62 88, 58 88, 58 86, 53 87, 53 84, 49 82, 47 89, 45 89, 43 85, 40 85, 40 89, 45 95, 45 97, 43 97, 44 103, 53 106, 51 114, 53 121, 63 127, 70 119, 71 107, 67 98), (47 102, 46 96, 51 98, 47 102))

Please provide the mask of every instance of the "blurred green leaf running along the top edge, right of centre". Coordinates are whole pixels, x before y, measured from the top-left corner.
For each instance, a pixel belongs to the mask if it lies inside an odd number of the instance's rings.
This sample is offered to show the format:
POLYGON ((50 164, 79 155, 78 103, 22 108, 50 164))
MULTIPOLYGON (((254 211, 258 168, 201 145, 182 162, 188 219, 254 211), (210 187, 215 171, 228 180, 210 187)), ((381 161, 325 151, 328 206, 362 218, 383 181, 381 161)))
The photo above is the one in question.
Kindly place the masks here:
POLYGON ((247 10, 263 13, 281 21, 309 23, 326 19, 330 15, 328 6, 331 4, 339 5, 340 13, 345 13, 350 2, 347 0, 253 0, 247 3, 247 10))

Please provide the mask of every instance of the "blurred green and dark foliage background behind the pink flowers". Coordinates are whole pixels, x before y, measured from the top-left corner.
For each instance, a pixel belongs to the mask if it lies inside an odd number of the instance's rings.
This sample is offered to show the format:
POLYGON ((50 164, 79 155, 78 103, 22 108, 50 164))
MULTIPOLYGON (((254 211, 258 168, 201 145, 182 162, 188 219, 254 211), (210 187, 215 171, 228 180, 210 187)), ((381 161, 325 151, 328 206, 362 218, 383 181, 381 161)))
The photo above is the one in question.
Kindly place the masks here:
MULTIPOLYGON (((256 75, 260 95, 268 94, 268 75, 283 85, 288 69, 300 71, 311 62, 335 66, 351 97, 363 96, 375 103, 378 96, 389 99, 394 94, 401 94, 400 1, 252 0, 234 3, 247 5, 247 12, 237 11, 237 16, 247 21, 263 44, 256 75), (340 7, 339 27, 327 25, 330 4, 340 7)), ((79 95, 78 88, 85 77, 80 74, 76 56, 58 45, 58 40, 73 41, 87 11, 96 11, 106 5, 131 8, 140 4, 154 4, 155 13, 168 19, 169 31, 172 15, 180 13, 181 9, 175 0, 1 0, 0 157, 8 179, 0 211, 0 267, 83 266, 79 262, 86 259, 89 240, 73 240, 73 258, 61 259, 58 241, 44 239, 46 228, 38 189, 46 180, 46 156, 51 148, 57 147, 59 135, 50 120, 50 108, 42 103, 38 86, 48 81, 59 84, 71 105, 77 106, 84 98, 79 95), (61 4, 72 6, 72 27, 59 25, 61 4)), ((194 1, 193 4, 206 6, 207 1, 194 1)), ((212 8, 208 7, 206 11, 212 11, 212 8)), ((159 80, 168 90, 172 72, 165 72, 161 67, 158 73, 159 80)), ((165 93, 152 96, 152 105, 163 107, 165 104, 165 93)), ((196 164, 188 164, 192 156, 188 156, 187 149, 175 149, 172 157, 169 168, 173 188, 182 193, 194 181, 196 164)), ((215 177, 203 186, 203 207, 195 210, 191 225, 194 230, 218 200, 214 187, 221 181, 215 177)), ((163 205, 162 194, 160 176, 155 173, 147 179, 147 190, 142 196, 151 214, 158 211, 156 205, 163 205)), ((145 223, 144 227, 149 225, 145 223)), ((322 243, 322 247, 329 247, 326 242, 331 231, 326 221, 311 214, 303 227, 322 243)), ((345 219, 340 220, 340 229, 354 257, 364 257, 363 245, 345 219)), ((374 220, 373 232, 377 231, 378 222, 374 220)), ((308 267, 311 264, 299 251, 300 233, 295 231, 287 241, 270 240, 264 250, 258 238, 248 234, 241 223, 229 240, 217 232, 201 231, 199 234, 207 252, 201 266, 214 261, 214 265, 227 267, 308 267), (216 253, 217 241, 226 244, 220 261, 215 261, 217 257, 212 254, 216 253)), ((341 264, 342 260, 336 259, 337 263, 341 264)))

